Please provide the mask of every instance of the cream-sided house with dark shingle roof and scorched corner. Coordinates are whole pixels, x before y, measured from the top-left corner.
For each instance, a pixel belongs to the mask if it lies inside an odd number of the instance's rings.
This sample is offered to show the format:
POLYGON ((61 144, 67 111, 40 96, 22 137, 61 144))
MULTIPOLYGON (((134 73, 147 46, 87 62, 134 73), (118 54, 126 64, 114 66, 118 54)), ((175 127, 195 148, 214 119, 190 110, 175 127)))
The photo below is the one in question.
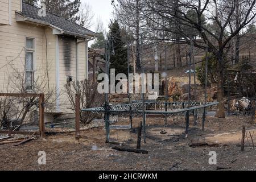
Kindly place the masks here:
MULTIPOLYGON (((68 81, 88 78, 88 42, 97 34, 57 15, 38 12, 22 0, 0 0, 0 88, 10 76, 10 65, 26 65, 28 92, 47 66, 48 82, 56 94, 68 81)), ((67 96, 61 95, 56 112, 69 112, 67 104, 67 96)))

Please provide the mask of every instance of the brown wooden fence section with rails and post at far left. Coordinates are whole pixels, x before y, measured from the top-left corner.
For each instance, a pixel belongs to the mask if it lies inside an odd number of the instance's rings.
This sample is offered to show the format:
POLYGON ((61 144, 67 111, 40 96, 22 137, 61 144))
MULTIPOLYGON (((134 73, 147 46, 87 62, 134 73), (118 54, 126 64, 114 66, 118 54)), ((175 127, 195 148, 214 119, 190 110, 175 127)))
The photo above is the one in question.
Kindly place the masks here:
POLYGON ((0 93, 0 97, 39 97, 39 131, 11 131, 11 130, 0 130, 0 134, 20 134, 20 135, 40 135, 44 138, 45 126, 44 126, 44 94, 33 94, 33 93, 0 93))

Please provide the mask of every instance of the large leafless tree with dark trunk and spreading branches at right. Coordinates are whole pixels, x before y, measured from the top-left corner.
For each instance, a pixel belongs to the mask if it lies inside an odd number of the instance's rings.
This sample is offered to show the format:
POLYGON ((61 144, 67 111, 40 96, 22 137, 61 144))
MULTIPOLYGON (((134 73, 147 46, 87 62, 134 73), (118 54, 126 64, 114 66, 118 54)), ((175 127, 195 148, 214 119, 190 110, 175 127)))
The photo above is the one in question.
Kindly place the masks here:
MULTIPOLYGON (((224 65, 226 51, 229 43, 239 34, 243 28, 253 23, 255 19, 256 0, 227 0, 227 1, 210 1, 210 0, 144 0, 151 13, 158 14, 164 19, 164 24, 159 24, 159 29, 172 34, 179 34, 179 42, 187 43, 201 49, 207 49, 212 52, 218 60, 218 109, 216 117, 225 118, 224 113, 224 65), (239 6, 237 6, 239 3, 239 6), (179 8, 174 8, 175 6, 179 8), (243 11, 239 13, 239 19, 236 19, 236 9, 239 7, 243 11), (188 11, 193 10, 196 18, 188 16, 188 11), (214 10, 214 11, 213 11, 214 10), (202 16, 209 23, 216 25, 218 34, 213 32, 212 28, 205 26, 202 16), (233 21, 236 19, 238 22, 233 21), (175 24, 171 27, 171 24, 175 24), (235 24, 234 24, 235 23, 235 24), (184 26, 191 27, 197 32, 196 39, 191 39, 185 31, 184 26), (233 27, 233 28, 230 28, 233 27)), ((150 18, 150 17, 148 17, 150 18)), ((155 19, 152 22, 158 23, 155 19)), ((159 21, 160 22, 160 21, 159 21)), ((169 41, 176 41, 168 39, 169 41)))

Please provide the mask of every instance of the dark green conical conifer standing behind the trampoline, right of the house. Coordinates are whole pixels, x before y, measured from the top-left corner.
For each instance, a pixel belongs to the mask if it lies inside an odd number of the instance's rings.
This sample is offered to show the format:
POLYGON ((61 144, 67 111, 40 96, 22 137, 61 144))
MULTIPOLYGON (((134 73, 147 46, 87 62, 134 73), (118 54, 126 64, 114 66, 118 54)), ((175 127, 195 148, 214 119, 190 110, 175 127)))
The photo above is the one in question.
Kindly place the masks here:
POLYGON ((109 24, 109 38, 112 39, 114 55, 110 56, 110 68, 115 69, 115 74, 125 73, 127 75, 127 48, 121 36, 121 28, 118 21, 109 24))

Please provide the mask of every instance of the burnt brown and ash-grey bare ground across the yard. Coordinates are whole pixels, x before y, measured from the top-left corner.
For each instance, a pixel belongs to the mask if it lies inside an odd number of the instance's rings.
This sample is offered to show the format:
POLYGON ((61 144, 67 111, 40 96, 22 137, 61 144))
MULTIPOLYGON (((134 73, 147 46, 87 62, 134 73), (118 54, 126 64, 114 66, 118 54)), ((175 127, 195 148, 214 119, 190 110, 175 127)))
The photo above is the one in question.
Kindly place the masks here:
MULTIPOLYGON (((255 170, 256 151, 250 134, 256 125, 249 117, 231 116, 226 119, 208 117, 205 131, 201 119, 194 125, 193 118, 185 138, 184 118, 147 117, 146 144, 148 154, 113 150, 114 144, 105 143, 104 126, 81 131, 79 142, 75 133, 47 136, 23 145, 0 145, 0 170, 255 170), (245 151, 241 152, 241 130, 246 126, 245 151), (165 130, 166 132, 161 131, 165 130), (215 146, 189 147, 192 142, 216 143, 215 146), (38 152, 46 152, 46 165, 38 164, 38 152), (217 165, 209 164, 209 152, 216 151, 217 165)), ((141 118, 134 119, 138 127, 141 118)), ((129 119, 119 118, 114 125, 129 125, 129 119)), ((256 141, 256 134, 253 140, 256 141)), ((135 148, 137 133, 131 130, 111 130, 110 139, 135 148)))

